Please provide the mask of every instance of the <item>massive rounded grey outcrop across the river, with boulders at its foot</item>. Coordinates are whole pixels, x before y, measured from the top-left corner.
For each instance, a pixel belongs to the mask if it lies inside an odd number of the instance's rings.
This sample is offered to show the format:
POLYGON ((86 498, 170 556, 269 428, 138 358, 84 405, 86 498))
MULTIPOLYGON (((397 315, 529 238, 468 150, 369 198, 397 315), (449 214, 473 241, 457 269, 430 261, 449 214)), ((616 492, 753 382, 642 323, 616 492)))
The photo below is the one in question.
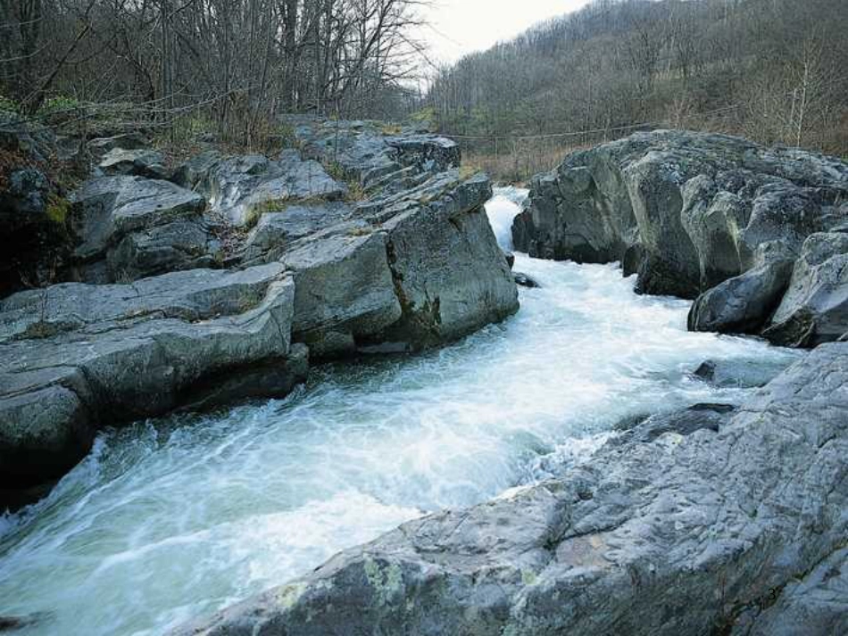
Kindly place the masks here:
POLYGON ((843 161, 737 137, 637 133, 537 177, 513 238, 540 258, 618 260, 644 293, 699 298, 693 329, 806 346, 848 331, 834 322, 844 316, 835 233, 848 222, 846 196, 843 161), (812 252, 823 260, 805 265, 812 252))

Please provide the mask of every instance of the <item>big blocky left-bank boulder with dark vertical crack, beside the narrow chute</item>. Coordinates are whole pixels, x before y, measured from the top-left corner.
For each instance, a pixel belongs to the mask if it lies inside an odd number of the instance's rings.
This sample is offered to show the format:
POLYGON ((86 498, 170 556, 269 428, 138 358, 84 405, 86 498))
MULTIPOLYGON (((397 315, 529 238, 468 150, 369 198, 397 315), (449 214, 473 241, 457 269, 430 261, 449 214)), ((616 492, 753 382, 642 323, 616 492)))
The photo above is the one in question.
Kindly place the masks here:
POLYGON ((448 170, 356 205, 268 212, 245 262, 295 273, 295 341, 315 357, 417 351, 518 309, 509 265, 486 220, 485 176, 448 170))

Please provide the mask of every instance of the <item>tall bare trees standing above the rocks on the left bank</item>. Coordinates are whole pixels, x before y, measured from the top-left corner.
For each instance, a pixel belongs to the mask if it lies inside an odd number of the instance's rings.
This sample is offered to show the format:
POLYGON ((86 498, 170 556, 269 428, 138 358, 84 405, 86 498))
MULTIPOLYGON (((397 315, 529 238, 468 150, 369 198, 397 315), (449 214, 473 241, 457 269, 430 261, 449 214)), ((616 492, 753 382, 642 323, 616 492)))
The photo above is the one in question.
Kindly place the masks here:
POLYGON ((256 145, 279 113, 399 118, 414 0, 0 0, 0 107, 256 145))

